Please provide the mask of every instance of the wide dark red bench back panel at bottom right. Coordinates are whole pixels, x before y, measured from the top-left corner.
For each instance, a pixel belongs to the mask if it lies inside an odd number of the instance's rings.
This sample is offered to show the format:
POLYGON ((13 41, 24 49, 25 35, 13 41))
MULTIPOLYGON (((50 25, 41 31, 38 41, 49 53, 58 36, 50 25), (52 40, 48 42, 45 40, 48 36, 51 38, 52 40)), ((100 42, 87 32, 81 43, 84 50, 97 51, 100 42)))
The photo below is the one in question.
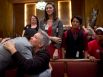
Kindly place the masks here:
POLYGON ((88 61, 69 61, 66 64, 68 77, 96 77, 97 63, 88 61))

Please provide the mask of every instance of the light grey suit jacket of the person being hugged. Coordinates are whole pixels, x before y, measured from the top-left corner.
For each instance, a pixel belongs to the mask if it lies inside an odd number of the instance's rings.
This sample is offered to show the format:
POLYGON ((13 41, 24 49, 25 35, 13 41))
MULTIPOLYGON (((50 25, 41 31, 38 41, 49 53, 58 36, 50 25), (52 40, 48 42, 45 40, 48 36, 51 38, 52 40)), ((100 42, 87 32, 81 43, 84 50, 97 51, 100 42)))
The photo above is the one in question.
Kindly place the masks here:
MULTIPOLYGON (((11 39, 19 51, 26 59, 32 58, 32 46, 25 37, 11 39)), ((12 62, 11 54, 0 43, 0 72, 12 62)))

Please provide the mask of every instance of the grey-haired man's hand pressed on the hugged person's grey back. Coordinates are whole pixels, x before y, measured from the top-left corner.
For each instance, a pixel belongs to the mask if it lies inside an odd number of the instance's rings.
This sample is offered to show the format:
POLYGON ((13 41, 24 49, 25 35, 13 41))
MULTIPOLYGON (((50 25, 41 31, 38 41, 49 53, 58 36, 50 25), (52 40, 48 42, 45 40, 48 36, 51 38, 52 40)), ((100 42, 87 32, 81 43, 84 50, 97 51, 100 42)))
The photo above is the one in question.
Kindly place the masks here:
POLYGON ((7 49, 11 54, 16 52, 15 44, 13 41, 6 41, 3 43, 5 49, 7 49))

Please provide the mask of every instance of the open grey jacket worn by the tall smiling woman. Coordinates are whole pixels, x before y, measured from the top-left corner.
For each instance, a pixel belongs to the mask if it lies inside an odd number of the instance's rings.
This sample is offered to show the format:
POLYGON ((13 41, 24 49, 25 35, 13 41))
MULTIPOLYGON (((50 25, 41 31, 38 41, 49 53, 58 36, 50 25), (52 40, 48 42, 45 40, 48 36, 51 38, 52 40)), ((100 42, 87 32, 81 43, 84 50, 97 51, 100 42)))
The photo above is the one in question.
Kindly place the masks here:
MULTIPOLYGON (((39 28, 45 31, 46 22, 44 20, 41 20, 39 23, 39 28)), ((60 37, 63 36, 63 23, 57 19, 53 21, 52 25, 52 36, 60 37)), ((56 48, 60 48, 61 44, 55 44, 56 48)))

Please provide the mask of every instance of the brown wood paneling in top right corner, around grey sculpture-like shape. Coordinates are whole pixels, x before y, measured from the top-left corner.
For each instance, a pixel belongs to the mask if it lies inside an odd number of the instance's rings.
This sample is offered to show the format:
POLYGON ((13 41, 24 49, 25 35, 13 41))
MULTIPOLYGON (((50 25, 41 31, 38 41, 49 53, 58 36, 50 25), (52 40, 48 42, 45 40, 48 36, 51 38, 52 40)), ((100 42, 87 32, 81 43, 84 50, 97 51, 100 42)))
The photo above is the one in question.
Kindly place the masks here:
POLYGON ((103 25, 103 1, 102 0, 85 0, 85 19, 90 17, 92 8, 98 9, 96 25, 103 25))

